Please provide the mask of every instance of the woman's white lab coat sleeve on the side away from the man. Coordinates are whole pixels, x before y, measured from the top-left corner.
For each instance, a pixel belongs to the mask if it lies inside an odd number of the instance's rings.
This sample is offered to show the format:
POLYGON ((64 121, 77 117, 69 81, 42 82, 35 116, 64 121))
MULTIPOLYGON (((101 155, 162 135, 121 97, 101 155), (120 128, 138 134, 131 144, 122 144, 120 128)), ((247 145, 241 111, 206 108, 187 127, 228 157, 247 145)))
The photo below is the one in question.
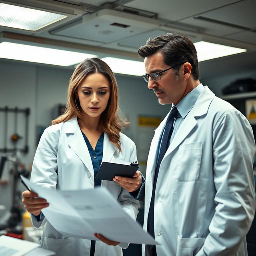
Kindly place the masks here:
MULTIPOLYGON (((33 161, 31 182, 42 187, 56 190, 57 175, 57 142, 54 135, 47 128, 40 138, 33 161)), ((42 215, 39 222, 31 216, 32 224, 36 228, 44 225, 47 219, 42 215)))

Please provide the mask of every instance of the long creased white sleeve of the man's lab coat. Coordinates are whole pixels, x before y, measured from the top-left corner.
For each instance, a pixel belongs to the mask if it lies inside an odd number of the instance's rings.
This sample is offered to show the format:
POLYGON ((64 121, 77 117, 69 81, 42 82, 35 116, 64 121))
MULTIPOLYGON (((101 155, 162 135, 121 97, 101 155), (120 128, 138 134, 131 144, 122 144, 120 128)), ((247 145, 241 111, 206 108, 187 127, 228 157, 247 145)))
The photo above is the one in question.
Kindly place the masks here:
POLYGON ((255 142, 248 120, 240 112, 228 110, 216 121, 212 135, 216 208, 210 233, 196 256, 234 255, 255 212, 255 142))

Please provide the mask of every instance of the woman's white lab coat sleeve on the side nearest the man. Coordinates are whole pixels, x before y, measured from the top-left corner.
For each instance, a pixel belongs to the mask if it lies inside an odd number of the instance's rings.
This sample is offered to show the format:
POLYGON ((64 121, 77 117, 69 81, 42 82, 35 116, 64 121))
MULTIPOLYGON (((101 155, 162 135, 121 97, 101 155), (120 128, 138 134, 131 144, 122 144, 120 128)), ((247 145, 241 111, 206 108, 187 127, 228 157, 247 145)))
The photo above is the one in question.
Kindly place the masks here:
MULTIPOLYGON (((136 146, 133 141, 130 141, 130 159, 128 161, 134 162, 136 160, 136 146)), ((140 207, 138 200, 132 198, 127 190, 121 188, 121 192, 118 197, 118 202, 121 204, 124 212, 126 212, 135 221, 138 214, 138 208, 140 207)), ((124 249, 126 249, 128 245, 128 243, 124 242, 119 244, 119 246, 124 249)))

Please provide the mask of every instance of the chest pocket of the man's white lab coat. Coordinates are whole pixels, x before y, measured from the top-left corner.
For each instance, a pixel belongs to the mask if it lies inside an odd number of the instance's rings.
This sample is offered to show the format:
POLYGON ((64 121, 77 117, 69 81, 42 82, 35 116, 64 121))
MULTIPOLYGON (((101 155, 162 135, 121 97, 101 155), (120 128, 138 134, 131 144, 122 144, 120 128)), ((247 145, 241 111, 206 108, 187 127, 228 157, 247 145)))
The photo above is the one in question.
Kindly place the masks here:
POLYGON ((202 142, 183 144, 178 151, 178 165, 174 170, 174 178, 179 181, 198 180, 201 158, 202 142))

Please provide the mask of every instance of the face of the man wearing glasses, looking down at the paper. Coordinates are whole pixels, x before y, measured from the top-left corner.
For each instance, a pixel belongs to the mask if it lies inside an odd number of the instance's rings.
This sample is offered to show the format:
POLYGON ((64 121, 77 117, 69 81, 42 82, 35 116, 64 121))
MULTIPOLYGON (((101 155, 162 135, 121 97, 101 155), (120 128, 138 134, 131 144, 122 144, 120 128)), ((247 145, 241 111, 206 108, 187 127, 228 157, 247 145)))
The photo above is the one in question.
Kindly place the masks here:
MULTIPOLYGON (((164 63, 162 53, 156 52, 148 56, 144 60, 146 74, 160 72, 170 66, 164 63)), ((186 84, 182 76, 182 67, 179 70, 178 77, 174 76, 173 70, 167 70, 160 74, 161 80, 154 81, 149 78, 148 88, 153 89, 158 98, 158 102, 162 105, 174 103, 177 105, 185 96, 186 84)))

